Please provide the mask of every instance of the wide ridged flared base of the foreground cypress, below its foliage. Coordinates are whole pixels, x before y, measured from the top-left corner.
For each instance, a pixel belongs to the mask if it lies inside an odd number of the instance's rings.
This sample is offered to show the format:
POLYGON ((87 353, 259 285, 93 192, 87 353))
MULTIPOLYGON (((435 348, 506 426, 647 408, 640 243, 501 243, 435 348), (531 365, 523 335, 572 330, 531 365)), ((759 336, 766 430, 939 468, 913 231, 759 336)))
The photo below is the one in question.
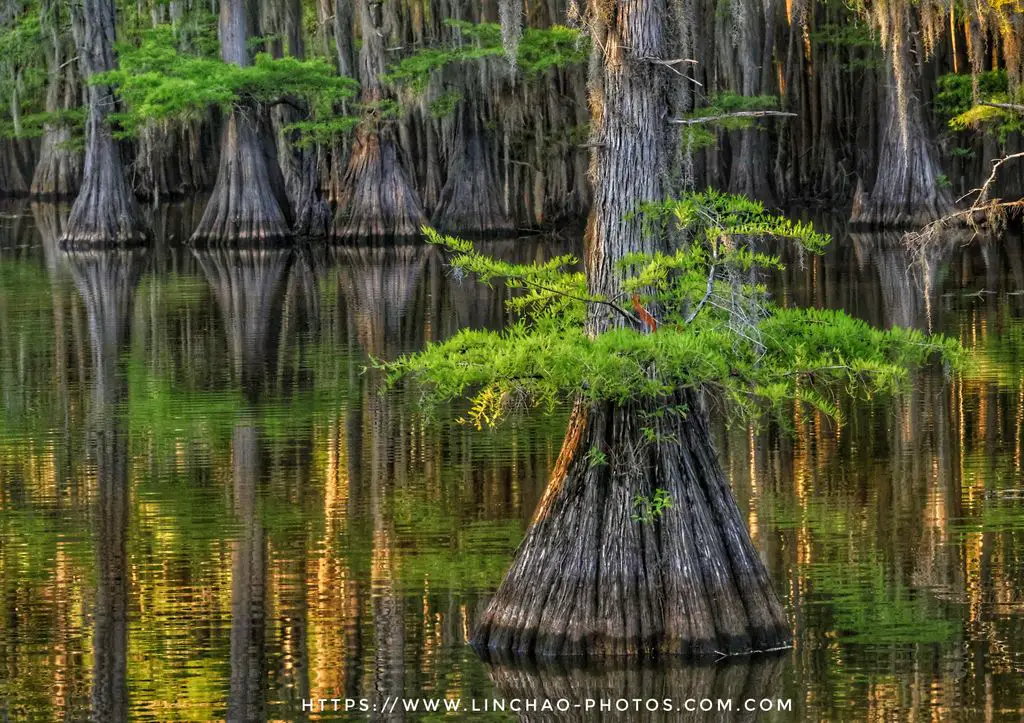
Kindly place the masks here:
POLYGON ((475 631, 479 651, 712 658, 791 644, 694 410, 683 397, 578 405, 530 528, 475 631), (643 514, 637 500, 658 490, 672 506, 643 514))

